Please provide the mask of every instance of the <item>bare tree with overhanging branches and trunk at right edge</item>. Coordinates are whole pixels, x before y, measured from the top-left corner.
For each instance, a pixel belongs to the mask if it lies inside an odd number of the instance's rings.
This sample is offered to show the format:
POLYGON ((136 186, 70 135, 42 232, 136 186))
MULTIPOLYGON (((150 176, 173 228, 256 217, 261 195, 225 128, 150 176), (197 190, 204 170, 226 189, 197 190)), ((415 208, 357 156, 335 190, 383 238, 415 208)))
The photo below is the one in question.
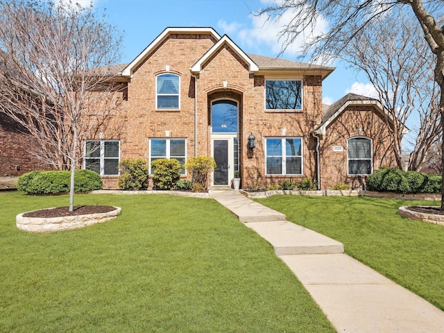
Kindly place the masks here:
MULTIPOLYGON (((402 15, 413 15, 434 54, 434 80, 439 87, 436 105, 441 114, 441 127, 444 127, 444 27, 438 23, 443 8, 442 0, 278 0, 257 15, 279 20, 286 12, 291 12, 291 21, 284 24, 279 34, 284 49, 296 38, 309 35, 302 49, 305 55, 312 53, 314 59, 341 54, 370 22, 386 12, 398 9, 402 15), (328 31, 316 31, 318 19, 330 22, 328 31)), ((444 194, 444 185, 441 192, 444 194)), ((442 197, 441 210, 444 210, 444 195, 442 197)))

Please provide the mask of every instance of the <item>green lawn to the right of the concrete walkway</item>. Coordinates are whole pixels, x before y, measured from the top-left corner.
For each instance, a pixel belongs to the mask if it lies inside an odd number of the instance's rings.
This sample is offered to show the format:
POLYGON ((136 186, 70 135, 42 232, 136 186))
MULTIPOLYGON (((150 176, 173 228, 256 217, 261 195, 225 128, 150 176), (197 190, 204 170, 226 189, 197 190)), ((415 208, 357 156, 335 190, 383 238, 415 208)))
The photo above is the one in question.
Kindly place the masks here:
POLYGON ((444 310, 444 226, 404 219, 402 205, 430 201, 273 196, 257 200, 287 220, 341 241, 345 253, 444 310))

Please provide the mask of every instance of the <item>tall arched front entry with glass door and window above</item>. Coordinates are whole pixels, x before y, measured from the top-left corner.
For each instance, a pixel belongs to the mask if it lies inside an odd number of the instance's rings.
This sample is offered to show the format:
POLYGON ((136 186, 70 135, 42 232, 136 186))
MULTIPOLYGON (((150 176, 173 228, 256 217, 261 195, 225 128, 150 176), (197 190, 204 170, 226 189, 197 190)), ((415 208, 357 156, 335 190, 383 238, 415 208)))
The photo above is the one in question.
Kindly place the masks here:
POLYGON ((219 99, 211 108, 211 153, 216 161, 212 173, 213 187, 229 187, 234 171, 239 170, 237 101, 219 99))

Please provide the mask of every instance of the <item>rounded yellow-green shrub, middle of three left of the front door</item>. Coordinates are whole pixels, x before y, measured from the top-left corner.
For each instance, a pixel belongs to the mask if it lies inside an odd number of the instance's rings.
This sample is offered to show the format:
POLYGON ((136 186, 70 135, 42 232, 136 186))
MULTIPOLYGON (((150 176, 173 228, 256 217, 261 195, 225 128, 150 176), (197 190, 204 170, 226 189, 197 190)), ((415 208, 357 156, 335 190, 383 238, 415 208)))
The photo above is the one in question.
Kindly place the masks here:
POLYGON ((151 162, 153 171, 153 182, 155 189, 173 189, 180 179, 182 168, 175 158, 161 158, 151 162))

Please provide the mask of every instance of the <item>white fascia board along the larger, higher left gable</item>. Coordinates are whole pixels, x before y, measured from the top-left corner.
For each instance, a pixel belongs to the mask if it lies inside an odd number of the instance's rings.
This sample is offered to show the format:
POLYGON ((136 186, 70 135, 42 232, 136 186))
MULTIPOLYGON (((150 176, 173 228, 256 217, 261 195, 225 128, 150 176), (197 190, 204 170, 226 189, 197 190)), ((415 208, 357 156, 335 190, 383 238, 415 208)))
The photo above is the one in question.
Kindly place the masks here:
POLYGON ((139 63, 142 62, 142 60, 144 60, 146 56, 148 56, 151 51, 153 51, 160 43, 162 43, 164 39, 171 33, 210 33, 216 38, 216 40, 221 39, 219 33, 216 33, 213 28, 165 28, 165 30, 162 31, 162 33, 160 33, 160 35, 158 35, 155 40, 151 42, 151 44, 146 46, 146 49, 144 49, 144 51, 142 51, 139 56, 135 58, 135 60, 130 62, 130 64, 123 69, 122 76, 132 76, 133 69, 137 67, 137 65, 139 65, 139 63))

